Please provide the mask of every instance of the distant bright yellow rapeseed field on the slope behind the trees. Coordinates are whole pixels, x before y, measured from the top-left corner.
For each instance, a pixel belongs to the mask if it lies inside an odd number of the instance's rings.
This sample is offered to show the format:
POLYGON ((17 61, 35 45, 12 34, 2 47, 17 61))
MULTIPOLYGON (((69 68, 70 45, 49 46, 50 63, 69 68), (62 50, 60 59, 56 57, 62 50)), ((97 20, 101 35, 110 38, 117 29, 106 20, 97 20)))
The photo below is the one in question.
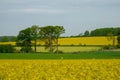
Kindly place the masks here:
MULTIPOLYGON (((34 41, 32 41, 34 43, 34 41)), ((117 45, 117 36, 115 36, 115 45, 117 45)), ((15 42, 0 42, 0 44, 12 44, 15 42)), ((38 40, 37 45, 44 45, 44 40, 38 40)), ((109 37, 76 37, 76 38, 59 38, 59 45, 113 45, 113 40, 109 37)))

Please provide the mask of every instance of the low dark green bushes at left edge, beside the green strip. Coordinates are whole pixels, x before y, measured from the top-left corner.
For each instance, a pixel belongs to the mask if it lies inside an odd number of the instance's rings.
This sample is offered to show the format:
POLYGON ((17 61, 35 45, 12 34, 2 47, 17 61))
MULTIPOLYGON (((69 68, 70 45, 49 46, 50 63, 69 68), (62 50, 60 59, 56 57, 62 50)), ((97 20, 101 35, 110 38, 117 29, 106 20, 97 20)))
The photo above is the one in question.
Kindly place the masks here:
POLYGON ((12 45, 0 45, 0 53, 13 53, 15 51, 12 45))

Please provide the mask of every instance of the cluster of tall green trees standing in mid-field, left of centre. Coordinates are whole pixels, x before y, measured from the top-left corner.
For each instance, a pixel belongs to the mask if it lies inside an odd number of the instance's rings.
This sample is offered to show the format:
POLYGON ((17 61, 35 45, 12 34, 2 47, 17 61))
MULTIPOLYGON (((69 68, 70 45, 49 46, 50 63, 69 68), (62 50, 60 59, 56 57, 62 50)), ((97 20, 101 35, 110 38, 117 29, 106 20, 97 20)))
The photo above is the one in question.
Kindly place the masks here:
POLYGON ((65 33, 63 26, 39 27, 33 25, 19 32, 17 36, 17 45, 21 47, 22 52, 27 53, 32 51, 31 47, 34 45, 34 51, 36 52, 37 39, 41 39, 45 41, 46 49, 49 48, 49 51, 53 52, 56 48, 56 52, 58 52, 58 38, 63 33, 65 33), (32 41, 34 41, 34 44, 32 41), (55 44, 54 46, 53 43, 55 44))

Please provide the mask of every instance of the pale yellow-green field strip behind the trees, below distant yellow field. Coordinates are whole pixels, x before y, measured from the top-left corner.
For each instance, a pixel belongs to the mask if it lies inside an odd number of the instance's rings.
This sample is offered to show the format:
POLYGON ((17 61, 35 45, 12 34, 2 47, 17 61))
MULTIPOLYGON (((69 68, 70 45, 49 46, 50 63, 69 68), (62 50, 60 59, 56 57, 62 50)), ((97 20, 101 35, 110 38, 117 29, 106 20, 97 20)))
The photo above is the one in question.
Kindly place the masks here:
MULTIPOLYGON (((34 47, 32 47, 34 50, 34 47)), ((17 50, 20 48, 17 47, 17 50)), ((44 46, 37 46, 37 52, 49 52, 49 48, 45 49, 44 46)), ((89 51, 99 51, 101 47, 98 46, 59 46, 58 50, 63 53, 73 53, 73 52, 89 52, 89 51)), ((56 50, 56 49, 55 49, 56 50)))

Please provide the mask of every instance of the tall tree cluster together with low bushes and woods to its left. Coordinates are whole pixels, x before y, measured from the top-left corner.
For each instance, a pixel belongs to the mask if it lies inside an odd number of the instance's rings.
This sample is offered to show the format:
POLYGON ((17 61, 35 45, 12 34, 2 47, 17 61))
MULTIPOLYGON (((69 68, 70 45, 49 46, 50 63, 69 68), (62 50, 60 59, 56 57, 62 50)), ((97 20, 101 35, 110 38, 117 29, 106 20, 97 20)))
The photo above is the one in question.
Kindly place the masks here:
MULTIPOLYGON (((20 52, 36 52, 37 40, 43 40, 45 42, 45 49, 49 49, 52 53, 55 51, 58 53, 58 38, 61 34, 65 33, 63 26, 43 26, 33 25, 26 29, 19 31, 19 34, 15 36, 1 36, 1 42, 16 41, 16 46, 21 47, 20 52), (32 49, 34 46, 34 50, 32 49)), ((0 45, 0 53, 15 52, 15 48, 12 45, 0 45)))

